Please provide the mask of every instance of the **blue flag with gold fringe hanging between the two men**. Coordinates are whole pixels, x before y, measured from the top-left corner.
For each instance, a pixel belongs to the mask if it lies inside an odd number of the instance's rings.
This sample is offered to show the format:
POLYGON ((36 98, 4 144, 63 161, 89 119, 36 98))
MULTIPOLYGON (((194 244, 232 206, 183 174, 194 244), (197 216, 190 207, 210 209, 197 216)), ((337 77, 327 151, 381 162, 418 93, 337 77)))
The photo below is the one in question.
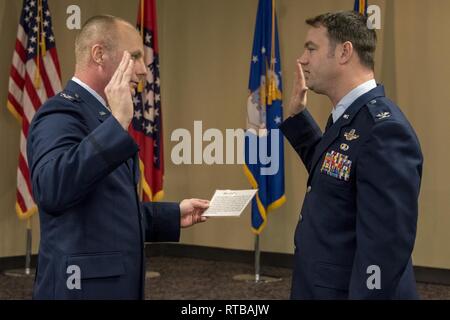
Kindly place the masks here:
POLYGON ((284 194, 281 64, 275 0, 259 0, 250 62, 245 174, 254 189, 252 230, 259 234, 267 213, 280 207, 284 194))

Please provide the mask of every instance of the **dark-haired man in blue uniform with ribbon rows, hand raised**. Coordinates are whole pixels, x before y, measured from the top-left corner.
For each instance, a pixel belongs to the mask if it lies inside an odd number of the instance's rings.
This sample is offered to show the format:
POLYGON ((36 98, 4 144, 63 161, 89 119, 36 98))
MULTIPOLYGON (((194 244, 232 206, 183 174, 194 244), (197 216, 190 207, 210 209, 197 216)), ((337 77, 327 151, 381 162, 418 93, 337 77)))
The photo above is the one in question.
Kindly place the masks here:
POLYGON ((295 231, 292 299, 418 298, 411 253, 419 141, 374 80, 376 33, 354 12, 307 20, 290 117, 281 130, 309 173, 295 231), (333 105, 325 132, 307 91, 333 105))

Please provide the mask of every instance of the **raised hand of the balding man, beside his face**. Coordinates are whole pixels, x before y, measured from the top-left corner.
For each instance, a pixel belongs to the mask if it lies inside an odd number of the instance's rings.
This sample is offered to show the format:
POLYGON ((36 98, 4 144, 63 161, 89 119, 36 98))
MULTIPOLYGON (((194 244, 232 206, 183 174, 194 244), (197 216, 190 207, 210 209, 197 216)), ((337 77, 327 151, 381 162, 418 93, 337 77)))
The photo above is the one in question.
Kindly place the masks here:
POLYGON ((128 130, 133 119, 133 100, 130 92, 133 68, 134 61, 131 59, 130 53, 125 51, 116 72, 105 87, 111 113, 125 130, 128 130))

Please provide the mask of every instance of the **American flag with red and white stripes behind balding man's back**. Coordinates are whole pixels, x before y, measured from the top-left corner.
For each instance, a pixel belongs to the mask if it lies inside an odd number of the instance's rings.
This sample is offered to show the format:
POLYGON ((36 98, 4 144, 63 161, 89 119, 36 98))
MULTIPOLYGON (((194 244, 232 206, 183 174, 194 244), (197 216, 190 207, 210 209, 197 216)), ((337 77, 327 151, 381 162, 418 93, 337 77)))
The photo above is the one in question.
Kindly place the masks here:
POLYGON ((8 109, 21 122, 16 212, 36 211, 26 158, 28 128, 36 111, 61 91, 61 71, 47 0, 24 0, 9 77, 8 109))

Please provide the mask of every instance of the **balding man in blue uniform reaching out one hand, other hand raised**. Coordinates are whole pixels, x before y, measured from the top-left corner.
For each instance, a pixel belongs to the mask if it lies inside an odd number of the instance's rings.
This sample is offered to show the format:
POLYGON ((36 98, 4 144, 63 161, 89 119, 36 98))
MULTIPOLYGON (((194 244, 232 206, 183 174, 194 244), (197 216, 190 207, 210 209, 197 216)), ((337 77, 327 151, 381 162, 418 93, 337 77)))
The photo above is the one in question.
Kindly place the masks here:
POLYGON ((138 146, 127 129, 145 78, 139 33, 97 16, 75 43, 75 76, 36 113, 28 163, 39 207, 37 299, 141 299, 145 241, 178 241, 208 201, 141 203, 138 146))

